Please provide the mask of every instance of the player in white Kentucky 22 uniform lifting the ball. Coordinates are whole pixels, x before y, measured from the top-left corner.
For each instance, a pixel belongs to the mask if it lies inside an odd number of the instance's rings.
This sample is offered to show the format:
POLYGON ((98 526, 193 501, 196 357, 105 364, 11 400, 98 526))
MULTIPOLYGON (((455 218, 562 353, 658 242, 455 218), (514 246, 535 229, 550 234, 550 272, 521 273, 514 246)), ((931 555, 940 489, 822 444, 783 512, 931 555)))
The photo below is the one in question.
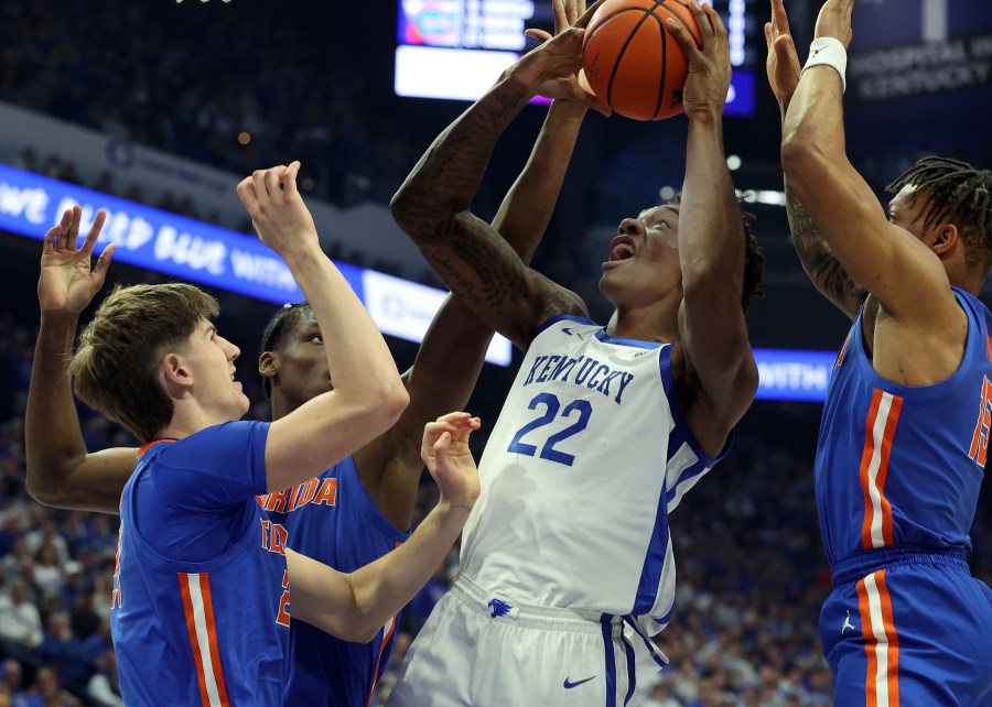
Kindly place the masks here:
POLYGON ((533 95, 594 100, 578 74, 592 9, 507 69, 393 197, 449 286, 526 355, 479 467, 461 575, 390 705, 623 704, 635 682, 624 624, 668 622, 668 511, 722 455, 757 385, 742 305, 761 257, 723 156, 726 33, 711 9, 690 7, 702 48, 672 30, 691 64, 682 199, 619 224, 601 281, 615 305, 606 327, 470 210, 497 139, 533 95), (438 664, 456 667, 440 675, 438 664))

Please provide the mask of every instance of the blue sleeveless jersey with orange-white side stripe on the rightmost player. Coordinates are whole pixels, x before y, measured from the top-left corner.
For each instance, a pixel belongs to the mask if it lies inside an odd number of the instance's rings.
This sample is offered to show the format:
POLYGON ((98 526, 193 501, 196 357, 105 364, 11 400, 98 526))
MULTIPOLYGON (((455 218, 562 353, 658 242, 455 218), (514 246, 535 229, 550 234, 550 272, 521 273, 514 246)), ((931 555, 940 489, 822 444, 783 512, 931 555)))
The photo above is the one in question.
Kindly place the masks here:
POLYGON ((968 316, 958 370, 921 388, 892 383, 865 354, 862 315, 834 365, 816 463, 816 497, 833 565, 892 545, 971 550, 992 427, 992 313, 955 289, 968 316))

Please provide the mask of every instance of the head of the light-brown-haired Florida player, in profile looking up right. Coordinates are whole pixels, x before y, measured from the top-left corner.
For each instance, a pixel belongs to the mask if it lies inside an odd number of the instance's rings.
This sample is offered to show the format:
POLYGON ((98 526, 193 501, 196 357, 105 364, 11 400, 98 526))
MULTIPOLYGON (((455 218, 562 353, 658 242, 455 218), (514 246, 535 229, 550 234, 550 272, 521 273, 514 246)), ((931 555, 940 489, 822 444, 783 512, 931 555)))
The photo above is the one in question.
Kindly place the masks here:
POLYGON ((211 317, 218 312, 217 301, 193 285, 116 286, 79 337, 67 369, 73 390, 142 443, 170 424, 175 400, 190 395, 212 414, 240 417, 248 399, 231 382, 239 351, 216 336, 211 317))

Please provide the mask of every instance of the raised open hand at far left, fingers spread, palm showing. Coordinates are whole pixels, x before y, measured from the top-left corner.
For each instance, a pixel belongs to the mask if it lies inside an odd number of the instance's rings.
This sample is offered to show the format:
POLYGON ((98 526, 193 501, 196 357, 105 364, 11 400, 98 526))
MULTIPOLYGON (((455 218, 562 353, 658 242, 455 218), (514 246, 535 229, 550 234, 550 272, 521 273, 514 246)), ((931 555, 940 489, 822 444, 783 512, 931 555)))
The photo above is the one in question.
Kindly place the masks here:
POLYGON ((104 286, 114 255, 114 243, 107 246, 90 270, 89 263, 107 213, 97 211, 93 227, 78 247, 83 209, 74 206, 62 215, 62 221, 45 233, 42 247, 37 301, 42 313, 78 315, 104 286))

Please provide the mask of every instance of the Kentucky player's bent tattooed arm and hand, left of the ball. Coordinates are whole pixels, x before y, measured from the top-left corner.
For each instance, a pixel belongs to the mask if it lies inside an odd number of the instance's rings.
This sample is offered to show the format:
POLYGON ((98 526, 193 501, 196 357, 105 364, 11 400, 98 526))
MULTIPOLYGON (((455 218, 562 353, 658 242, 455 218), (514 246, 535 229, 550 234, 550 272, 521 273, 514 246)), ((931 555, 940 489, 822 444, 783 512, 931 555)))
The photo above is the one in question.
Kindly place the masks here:
POLYGON ((526 348, 538 325, 585 314, 573 293, 528 268, 468 209, 499 135, 536 94, 592 102, 580 88, 582 36, 593 8, 507 69, 434 140, 392 198, 392 214, 428 262, 486 325, 526 348))

